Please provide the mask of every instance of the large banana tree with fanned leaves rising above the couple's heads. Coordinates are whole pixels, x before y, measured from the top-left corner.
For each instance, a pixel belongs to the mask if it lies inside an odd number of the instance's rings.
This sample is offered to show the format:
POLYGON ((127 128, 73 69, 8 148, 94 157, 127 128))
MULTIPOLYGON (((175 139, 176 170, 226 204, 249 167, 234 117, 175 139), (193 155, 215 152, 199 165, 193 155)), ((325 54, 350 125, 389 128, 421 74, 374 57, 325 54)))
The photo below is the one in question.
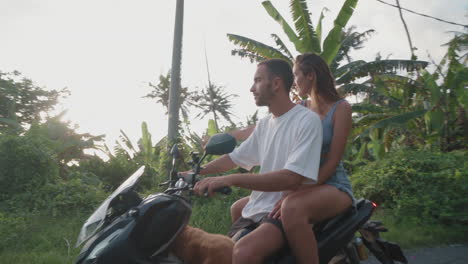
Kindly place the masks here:
MULTIPOLYGON (((322 32, 324 10, 322 10, 314 28, 306 1, 291 0, 291 15, 295 26, 295 29, 293 29, 270 1, 264 1, 262 5, 267 13, 281 25, 298 53, 313 52, 319 54, 327 62, 337 78, 337 85, 343 86, 343 94, 347 94, 349 89, 366 88, 354 82, 358 78, 397 70, 411 72, 426 67, 427 62, 412 60, 381 60, 378 58, 372 62, 352 61, 349 55, 350 51, 361 49, 363 43, 374 33, 374 30, 356 32, 355 27, 349 27, 345 30, 357 2, 357 0, 347 0, 343 3, 338 16, 335 18, 334 27, 324 38, 324 41, 322 41, 324 35, 322 32)), ((233 55, 250 58, 252 62, 267 58, 280 58, 289 61, 292 65, 294 57, 285 42, 276 34, 271 36, 277 46, 276 48, 251 38, 228 34, 229 40, 240 47, 232 51, 233 55)))

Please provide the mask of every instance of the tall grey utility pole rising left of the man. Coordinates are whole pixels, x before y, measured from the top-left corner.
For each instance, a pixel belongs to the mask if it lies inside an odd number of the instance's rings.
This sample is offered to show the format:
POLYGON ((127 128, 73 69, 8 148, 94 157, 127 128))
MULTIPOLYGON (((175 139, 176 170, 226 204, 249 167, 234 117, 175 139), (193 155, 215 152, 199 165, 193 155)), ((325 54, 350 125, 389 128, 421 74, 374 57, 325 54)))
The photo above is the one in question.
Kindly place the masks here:
POLYGON ((171 87, 169 90, 168 148, 179 135, 180 65, 182 60, 182 32, 184 22, 184 0, 177 0, 172 48, 171 87))

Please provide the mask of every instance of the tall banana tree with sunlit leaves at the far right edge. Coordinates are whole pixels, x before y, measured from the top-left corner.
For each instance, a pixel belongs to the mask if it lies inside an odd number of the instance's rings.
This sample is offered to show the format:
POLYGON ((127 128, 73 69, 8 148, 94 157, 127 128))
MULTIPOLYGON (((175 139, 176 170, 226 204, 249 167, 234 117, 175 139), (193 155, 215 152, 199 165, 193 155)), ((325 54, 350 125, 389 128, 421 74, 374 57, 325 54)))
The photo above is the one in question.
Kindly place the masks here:
POLYGON ((436 71, 423 71, 419 81, 426 88, 421 98, 428 109, 427 134, 437 140, 442 151, 450 151, 466 147, 468 34, 458 33, 445 45, 447 53, 436 65, 436 71))

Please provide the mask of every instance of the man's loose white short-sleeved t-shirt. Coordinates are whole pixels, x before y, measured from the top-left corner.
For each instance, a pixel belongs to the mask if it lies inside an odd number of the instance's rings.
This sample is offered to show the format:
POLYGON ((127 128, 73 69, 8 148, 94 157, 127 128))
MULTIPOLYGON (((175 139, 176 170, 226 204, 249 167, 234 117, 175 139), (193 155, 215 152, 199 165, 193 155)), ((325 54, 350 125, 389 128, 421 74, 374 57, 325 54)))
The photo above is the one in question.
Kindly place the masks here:
MULTIPOLYGON (((322 122, 309 109, 296 105, 279 117, 262 118, 254 132, 229 154, 238 166, 251 169, 260 165, 260 173, 287 169, 304 176, 303 183, 317 180, 322 122)), ((283 192, 252 191, 242 217, 260 221, 273 210, 283 192)))

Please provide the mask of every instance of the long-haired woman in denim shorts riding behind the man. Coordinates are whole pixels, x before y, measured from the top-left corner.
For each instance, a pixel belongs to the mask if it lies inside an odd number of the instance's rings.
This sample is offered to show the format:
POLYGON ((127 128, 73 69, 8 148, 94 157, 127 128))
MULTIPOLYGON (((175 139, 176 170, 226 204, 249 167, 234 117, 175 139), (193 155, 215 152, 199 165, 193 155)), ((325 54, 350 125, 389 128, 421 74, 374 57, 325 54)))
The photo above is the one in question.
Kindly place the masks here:
MULTIPOLYGON (((322 120, 320 170, 316 184, 304 185, 283 197, 269 217, 281 219, 297 263, 319 263, 310 223, 338 215, 354 203, 351 184, 341 162, 351 130, 351 106, 338 95, 330 69, 318 55, 307 53, 297 56, 293 71, 299 96, 309 97, 300 104, 317 113, 322 120)), ((243 139, 252 130, 248 127, 232 134, 243 139)), ((233 204, 233 221, 240 217, 247 201, 248 197, 245 197, 233 204)))

